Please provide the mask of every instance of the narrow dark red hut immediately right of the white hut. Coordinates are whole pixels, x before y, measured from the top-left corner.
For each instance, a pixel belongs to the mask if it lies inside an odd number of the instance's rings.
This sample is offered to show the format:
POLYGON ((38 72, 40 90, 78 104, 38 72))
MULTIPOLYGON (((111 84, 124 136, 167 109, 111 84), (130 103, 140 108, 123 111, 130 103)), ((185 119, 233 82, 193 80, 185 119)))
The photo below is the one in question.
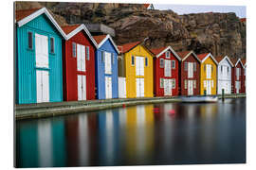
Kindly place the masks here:
POLYGON ((243 63, 241 59, 231 59, 232 68, 232 93, 242 93, 242 79, 244 75, 243 63))

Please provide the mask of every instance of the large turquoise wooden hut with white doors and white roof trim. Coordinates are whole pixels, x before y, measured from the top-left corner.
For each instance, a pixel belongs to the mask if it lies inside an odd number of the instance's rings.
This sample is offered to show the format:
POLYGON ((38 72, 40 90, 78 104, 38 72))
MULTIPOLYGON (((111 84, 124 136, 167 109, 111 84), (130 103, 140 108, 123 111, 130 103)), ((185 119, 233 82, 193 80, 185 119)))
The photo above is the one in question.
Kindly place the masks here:
POLYGON ((63 101, 64 31, 46 8, 15 14, 16 103, 63 101))

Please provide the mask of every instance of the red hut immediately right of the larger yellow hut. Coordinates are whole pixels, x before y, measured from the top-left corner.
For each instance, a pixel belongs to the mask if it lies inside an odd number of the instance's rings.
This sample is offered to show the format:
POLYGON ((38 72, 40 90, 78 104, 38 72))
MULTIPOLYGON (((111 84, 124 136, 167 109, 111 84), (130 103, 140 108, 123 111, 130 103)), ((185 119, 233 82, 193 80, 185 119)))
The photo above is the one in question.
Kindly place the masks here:
POLYGON ((151 49, 154 58, 155 96, 178 95, 179 56, 171 46, 151 49))

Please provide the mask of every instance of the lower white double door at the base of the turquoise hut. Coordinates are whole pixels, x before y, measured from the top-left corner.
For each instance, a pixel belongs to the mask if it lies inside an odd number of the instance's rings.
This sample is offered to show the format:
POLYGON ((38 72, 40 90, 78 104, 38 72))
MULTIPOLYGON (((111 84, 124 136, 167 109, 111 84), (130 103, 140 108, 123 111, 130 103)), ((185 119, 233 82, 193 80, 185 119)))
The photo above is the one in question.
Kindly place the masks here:
POLYGON ((44 70, 36 71, 37 103, 49 101, 49 73, 44 70))

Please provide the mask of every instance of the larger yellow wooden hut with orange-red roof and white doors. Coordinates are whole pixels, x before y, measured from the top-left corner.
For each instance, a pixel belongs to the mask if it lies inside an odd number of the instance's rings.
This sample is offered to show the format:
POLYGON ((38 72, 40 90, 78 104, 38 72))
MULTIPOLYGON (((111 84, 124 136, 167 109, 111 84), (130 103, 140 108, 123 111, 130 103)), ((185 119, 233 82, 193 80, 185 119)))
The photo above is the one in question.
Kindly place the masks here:
POLYGON ((154 54, 141 42, 119 45, 119 76, 125 77, 126 97, 154 96, 154 54))

